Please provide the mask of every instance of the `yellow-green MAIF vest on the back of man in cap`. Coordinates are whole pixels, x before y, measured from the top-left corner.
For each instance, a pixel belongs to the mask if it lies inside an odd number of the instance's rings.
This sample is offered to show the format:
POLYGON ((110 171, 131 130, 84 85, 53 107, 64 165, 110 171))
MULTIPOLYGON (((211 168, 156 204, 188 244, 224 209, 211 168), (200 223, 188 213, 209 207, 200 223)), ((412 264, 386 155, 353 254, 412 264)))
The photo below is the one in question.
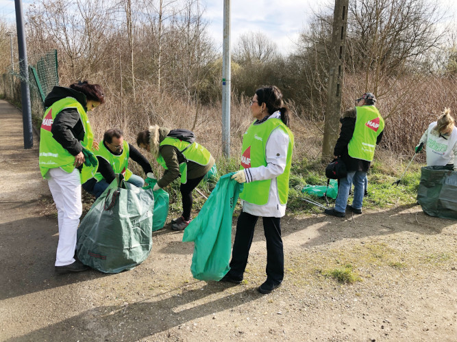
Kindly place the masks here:
POLYGON ((353 158, 372 161, 376 139, 384 129, 384 119, 373 105, 356 107, 356 111, 356 127, 347 151, 353 158))

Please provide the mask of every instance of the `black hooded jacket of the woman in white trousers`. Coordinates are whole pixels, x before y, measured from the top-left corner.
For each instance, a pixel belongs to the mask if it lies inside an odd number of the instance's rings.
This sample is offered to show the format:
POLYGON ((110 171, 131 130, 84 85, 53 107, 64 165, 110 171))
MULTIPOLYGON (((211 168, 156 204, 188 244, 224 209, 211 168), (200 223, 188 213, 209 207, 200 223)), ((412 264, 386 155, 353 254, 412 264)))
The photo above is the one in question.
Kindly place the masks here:
MULTIPOLYGON (((45 107, 50 107, 53 103, 62 100, 62 98, 73 97, 86 110, 86 95, 77 92, 71 88, 54 87, 45 98, 45 107)), ((51 133, 63 148, 69 151, 71 155, 77 155, 82 151, 81 141, 84 140, 84 126, 77 109, 65 108, 60 111, 52 124, 51 133)))

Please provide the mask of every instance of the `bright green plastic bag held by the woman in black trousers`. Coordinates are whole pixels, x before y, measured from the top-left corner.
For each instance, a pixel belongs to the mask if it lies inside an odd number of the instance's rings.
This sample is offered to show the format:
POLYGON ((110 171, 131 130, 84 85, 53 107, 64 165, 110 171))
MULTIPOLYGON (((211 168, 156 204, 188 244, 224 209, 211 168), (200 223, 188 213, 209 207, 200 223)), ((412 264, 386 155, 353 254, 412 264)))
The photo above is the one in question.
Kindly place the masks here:
POLYGON ((194 241, 190 271, 199 280, 219 281, 229 272, 232 252, 232 215, 243 185, 221 176, 197 218, 184 230, 182 241, 194 241))

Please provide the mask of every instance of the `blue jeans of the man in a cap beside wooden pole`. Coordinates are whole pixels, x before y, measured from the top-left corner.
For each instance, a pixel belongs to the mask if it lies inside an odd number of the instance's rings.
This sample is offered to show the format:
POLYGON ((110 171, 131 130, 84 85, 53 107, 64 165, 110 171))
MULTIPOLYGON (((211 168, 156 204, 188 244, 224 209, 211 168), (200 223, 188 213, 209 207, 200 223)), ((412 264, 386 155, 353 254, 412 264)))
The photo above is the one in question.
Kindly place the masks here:
POLYGON ((349 197, 349 189, 351 184, 354 183, 354 200, 352 200, 352 207, 354 209, 362 209, 363 191, 365 187, 365 171, 351 171, 347 172, 345 178, 340 179, 338 186, 338 196, 336 196, 335 210, 340 213, 346 212, 347 198, 349 197))

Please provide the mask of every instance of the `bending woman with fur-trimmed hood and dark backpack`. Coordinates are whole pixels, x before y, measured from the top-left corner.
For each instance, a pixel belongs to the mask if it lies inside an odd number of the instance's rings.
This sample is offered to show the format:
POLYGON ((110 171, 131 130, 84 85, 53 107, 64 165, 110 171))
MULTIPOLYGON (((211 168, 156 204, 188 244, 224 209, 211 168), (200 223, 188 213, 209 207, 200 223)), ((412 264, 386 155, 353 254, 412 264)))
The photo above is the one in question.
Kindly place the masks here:
POLYGON ((203 177, 214 166, 210 152, 195 142, 195 135, 186 129, 169 130, 158 125, 150 126, 136 137, 140 148, 149 150, 151 155, 165 169, 153 191, 166 187, 181 176, 182 215, 171 221, 173 231, 184 231, 192 218, 192 192, 203 177))

